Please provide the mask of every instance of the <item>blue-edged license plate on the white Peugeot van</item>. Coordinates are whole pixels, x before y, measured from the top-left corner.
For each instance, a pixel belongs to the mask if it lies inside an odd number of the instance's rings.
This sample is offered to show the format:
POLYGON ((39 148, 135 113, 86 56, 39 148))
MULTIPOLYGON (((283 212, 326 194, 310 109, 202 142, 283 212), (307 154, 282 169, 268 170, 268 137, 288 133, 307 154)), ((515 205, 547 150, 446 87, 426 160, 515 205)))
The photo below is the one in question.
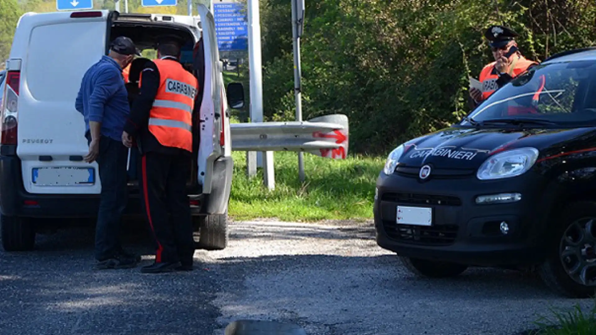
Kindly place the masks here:
POLYGON ((33 168, 33 184, 38 186, 77 186, 95 184, 94 168, 33 168))

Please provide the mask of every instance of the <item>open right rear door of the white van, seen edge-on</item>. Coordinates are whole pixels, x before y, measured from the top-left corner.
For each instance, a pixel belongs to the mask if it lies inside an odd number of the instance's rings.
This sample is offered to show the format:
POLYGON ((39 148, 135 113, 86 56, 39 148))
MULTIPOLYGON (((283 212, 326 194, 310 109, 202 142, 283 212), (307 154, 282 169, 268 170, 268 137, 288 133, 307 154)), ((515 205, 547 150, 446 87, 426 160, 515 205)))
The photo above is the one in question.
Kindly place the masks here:
POLYGON ((198 5, 198 14, 201 17, 203 29, 204 49, 204 83, 203 101, 200 109, 200 143, 197 157, 197 181, 203 185, 203 193, 212 191, 213 166, 218 157, 225 154, 225 139, 229 134, 222 135, 224 129, 222 122, 227 122, 223 113, 223 79, 219 69, 219 50, 215 35, 215 19, 213 14, 204 5, 198 5))

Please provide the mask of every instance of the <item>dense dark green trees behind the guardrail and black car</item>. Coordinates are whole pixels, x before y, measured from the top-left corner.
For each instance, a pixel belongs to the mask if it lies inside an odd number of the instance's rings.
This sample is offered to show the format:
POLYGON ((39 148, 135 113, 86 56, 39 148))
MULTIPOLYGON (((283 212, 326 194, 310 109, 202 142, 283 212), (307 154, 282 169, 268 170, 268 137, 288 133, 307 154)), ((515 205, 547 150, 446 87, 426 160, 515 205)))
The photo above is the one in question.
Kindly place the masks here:
MULTIPOLYGON (((263 106, 294 120, 291 7, 262 0, 263 106)), ((593 0, 306 1, 303 117, 343 113, 350 148, 386 153, 468 112, 468 76, 493 61, 483 30, 513 27, 528 58, 594 44, 593 0)))

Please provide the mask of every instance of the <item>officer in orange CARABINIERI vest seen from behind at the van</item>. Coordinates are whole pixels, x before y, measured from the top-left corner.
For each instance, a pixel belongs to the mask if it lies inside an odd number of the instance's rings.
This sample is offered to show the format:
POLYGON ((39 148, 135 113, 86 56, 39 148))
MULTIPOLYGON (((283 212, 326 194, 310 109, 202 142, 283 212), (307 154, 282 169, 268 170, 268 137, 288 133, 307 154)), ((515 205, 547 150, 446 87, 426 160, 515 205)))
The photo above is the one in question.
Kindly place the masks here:
POLYGON ((193 150, 192 113, 197 79, 179 62, 181 43, 157 45, 157 58, 141 72, 122 142, 141 153, 141 197, 156 240, 156 259, 144 273, 191 271, 194 239, 187 179, 193 150))

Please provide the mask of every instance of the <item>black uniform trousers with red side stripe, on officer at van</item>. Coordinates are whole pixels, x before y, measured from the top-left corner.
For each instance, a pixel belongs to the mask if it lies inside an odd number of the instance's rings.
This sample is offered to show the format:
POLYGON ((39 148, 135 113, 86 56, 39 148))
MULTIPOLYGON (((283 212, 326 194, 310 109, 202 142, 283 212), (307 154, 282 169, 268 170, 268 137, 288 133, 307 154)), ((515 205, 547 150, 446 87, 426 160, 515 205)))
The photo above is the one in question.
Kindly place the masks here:
POLYGON ((157 263, 193 264, 193 223, 186 189, 190 173, 190 155, 148 151, 141 157, 141 192, 157 244, 157 263))

